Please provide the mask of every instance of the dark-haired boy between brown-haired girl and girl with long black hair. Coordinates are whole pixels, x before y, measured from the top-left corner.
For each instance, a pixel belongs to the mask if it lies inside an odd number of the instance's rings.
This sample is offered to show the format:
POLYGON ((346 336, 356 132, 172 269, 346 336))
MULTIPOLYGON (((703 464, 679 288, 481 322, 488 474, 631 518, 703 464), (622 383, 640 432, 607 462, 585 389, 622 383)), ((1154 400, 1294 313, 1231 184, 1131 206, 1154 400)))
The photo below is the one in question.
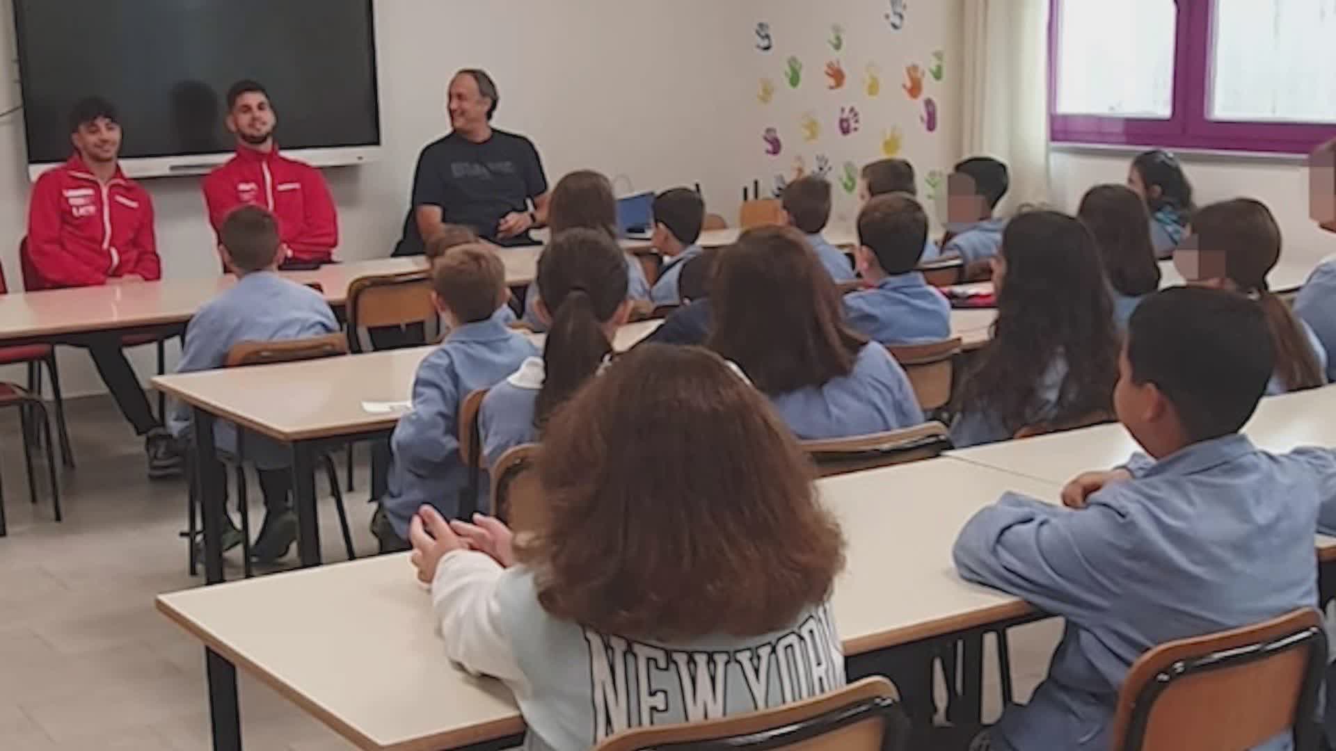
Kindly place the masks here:
POLYGON ((874 287, 844 295, 848 323, 883 345, 922 345, 951 338, 951 303, 916 271, 927 238, 927 214, 896 192, 867 202, 858 215, 858 271, 874 287))

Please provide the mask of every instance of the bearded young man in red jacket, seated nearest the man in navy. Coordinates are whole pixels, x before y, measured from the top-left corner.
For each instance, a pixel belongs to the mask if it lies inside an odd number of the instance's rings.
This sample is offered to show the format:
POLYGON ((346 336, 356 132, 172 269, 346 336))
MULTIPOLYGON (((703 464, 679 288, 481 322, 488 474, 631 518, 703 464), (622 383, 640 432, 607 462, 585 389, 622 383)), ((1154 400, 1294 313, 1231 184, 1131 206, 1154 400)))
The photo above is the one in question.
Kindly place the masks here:
POLYGON ((278 152, 277 124, 263 86, 253 80, 232 84, 227 130, 236 135, 236 156, 204 178, 208 222, 218 233, 238 206, 262 206, 278 218, 287 254, 281 267, 314 269, 334 261, 338 212, 319 170, 278 152))

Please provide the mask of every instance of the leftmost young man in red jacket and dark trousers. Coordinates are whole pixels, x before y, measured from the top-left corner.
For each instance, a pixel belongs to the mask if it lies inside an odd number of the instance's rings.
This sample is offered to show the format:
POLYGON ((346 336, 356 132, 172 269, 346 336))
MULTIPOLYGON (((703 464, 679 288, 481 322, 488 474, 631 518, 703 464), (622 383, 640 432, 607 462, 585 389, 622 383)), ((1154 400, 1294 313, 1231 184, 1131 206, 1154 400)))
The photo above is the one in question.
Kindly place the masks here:
MULTIPOLYGON (((75 154, 32 187, 23 277, 29 291, 154 282, 162 277, 148 192, 120 171, 120 126, 103 99, 84 99, 69 116, 75 154)), ((120 334, 80 341, 135 433, 146 437, 148 476, 180 473, 175 441, 154 417, 120 334)))

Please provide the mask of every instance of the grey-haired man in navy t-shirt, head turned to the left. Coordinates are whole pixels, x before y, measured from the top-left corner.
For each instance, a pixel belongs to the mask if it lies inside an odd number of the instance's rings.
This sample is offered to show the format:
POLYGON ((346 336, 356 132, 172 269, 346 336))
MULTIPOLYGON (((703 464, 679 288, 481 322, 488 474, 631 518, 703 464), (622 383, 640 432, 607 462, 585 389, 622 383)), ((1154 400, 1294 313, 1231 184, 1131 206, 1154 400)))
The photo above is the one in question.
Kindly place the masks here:
POLYGON ((453 130, 418 156, 394 255, 421 255, 444 224, 472 227, 502 246, 533 245, 529 230, 546 223, 549 199, 538 151, 529 139, 492 127, 500 95, 485 71, 456 73, 449 96, 453 130))

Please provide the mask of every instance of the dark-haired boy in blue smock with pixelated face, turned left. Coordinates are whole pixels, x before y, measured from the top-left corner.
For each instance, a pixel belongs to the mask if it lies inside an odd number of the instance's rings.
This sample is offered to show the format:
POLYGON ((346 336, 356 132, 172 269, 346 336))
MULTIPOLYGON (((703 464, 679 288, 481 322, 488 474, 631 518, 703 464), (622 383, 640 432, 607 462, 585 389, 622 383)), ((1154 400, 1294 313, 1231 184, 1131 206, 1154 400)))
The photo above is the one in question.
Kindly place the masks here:
POLYGON ((1011 190, 1011 175, 1002 162, 974 156, 957 164, 946 182, 950 196, 942 258, 959 257, 966 279, 986 279, 1007 222, 993 214, 1011 190))

